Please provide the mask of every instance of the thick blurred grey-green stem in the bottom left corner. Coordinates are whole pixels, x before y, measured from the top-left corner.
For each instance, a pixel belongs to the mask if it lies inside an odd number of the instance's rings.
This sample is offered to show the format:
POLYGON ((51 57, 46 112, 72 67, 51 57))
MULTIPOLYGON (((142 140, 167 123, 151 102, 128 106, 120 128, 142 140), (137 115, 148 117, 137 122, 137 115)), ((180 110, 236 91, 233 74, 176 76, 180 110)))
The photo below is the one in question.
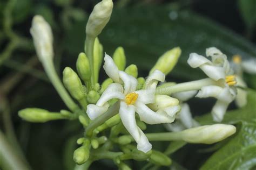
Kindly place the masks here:
POLYGON ((16 154, 14 147, 10 145, 4 134, 0 130, 0 165, 3 169, 21 169, 28 170, 29 165, 23 161, 23 158, 16 154))

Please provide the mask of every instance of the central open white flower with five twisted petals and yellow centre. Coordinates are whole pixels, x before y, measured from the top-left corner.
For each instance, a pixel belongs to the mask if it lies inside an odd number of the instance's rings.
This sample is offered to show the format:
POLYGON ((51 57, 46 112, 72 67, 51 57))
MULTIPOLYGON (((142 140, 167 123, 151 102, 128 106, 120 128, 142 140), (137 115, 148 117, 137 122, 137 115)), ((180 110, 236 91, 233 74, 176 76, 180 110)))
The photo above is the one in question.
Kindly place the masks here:
POLYGON ((155 102, 155 91, 158 81, 164 82, 165 75, 159 70, 155 70, 145 81, 145 89, 136 90, 138 81, 133 76, 118 70, 113 59, 105 54, 104 66, 106 74, 114 81, 103 92, 96 104, 87 105, 87 115, 90 119, 104 114, 112 98, 120 100, 120 118, 131 136, 137 142, 140 151, 148 152, 152 145, 145 134, 136 124, 135 112, 140 120, 147 124, 171 123, 174 121, 176 113, 179 111, 177 105, 160 108, 156 112, 151 110, 147 104, 155 102), (124 84, 124 87, 122 86, 124 84))

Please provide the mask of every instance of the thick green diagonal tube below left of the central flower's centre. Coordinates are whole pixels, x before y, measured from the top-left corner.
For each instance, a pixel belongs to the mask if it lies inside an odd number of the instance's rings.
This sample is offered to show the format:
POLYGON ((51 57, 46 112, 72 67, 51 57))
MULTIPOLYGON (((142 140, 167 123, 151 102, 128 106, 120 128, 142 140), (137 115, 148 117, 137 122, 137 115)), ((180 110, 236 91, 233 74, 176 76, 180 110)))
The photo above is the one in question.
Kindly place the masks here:
POLYGON ((95 130, 99 125, 106 122, 109 118, 113 117, 114 115, 118 114, 120 108, 120 101, 117 101, 110 107, 103 115, 97 117, 93 120, 86 129, 86 135, 92 136, 93 130, 95 130))

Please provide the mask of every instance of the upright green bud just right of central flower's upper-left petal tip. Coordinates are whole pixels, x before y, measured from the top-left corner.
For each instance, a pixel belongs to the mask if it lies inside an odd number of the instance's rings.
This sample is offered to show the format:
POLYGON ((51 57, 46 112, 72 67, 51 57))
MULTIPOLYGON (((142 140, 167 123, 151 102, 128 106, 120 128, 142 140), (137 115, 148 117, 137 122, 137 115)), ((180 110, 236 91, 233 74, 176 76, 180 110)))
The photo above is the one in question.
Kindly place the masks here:
POLYGON ((116 51, 114 51, 113 60, 114 63, 116 63, 118 69, 123 71, 126 65, 126 57, 123 47, 118 47, 116 51))

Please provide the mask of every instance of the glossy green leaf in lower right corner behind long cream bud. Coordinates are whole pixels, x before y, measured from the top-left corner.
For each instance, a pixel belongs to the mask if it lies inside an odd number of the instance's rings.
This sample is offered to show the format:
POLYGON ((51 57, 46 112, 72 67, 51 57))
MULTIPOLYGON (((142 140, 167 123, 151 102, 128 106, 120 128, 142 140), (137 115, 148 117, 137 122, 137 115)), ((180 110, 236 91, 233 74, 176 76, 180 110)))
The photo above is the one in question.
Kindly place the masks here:
MULTIPOLYGON (((237 133, 200 168, 204 169, 255 169, 256 167, 256 91, 248 91, 244 108, 229 111, 223 123, 238 124, 237 133)), ((210 115, 199 118, 202 124, 210 123, 210 115)))

